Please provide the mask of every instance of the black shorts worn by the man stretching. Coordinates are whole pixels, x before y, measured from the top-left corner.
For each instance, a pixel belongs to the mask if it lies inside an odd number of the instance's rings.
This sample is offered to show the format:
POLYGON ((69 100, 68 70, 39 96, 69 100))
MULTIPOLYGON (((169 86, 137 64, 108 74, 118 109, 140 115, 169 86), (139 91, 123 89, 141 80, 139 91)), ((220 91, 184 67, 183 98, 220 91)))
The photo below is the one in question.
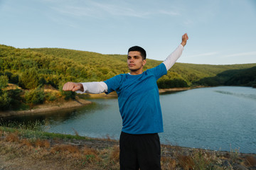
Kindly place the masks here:
POLYGON ((121 170, 161 170, 161 146, 159 135, 120 135, 121 170))

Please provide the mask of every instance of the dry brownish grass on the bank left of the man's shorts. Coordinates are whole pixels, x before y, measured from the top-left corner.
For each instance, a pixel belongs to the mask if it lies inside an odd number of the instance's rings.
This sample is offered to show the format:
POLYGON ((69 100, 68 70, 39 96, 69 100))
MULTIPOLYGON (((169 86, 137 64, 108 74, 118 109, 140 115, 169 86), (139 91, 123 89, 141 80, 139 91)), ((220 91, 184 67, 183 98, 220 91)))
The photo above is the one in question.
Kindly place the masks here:
POLYGON ((0 163, 3 164, 0 169, 17 169, 18 164, 18 169, 119 169, 117 146, 92 149, 85 145, 62 144, 60 140, 50 144, 48 140, 21 138, 17 132, 1 132, 0 135, 0 163), (41 162, 45 164, 42 166, 41 162))

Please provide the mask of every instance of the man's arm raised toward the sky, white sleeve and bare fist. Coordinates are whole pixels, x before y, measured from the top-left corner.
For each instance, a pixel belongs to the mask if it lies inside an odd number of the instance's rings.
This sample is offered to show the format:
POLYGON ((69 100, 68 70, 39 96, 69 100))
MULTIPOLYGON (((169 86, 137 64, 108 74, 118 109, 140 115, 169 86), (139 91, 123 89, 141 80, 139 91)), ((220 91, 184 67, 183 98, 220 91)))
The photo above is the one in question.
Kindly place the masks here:
POLYGON ((188 35, 185 33, 184 35, 182 35, 181 45, 178 45, 176 50, 174 50, 174 52, 172 52, 171 55, 169 55, 166 58, 166 60, 164 60, 163 63, 165 64, 167 70, 171 69, 171 67, 178 60, 178 58, 181 57, 183 48, 186 45, 187 40, 188 40, 188 35))

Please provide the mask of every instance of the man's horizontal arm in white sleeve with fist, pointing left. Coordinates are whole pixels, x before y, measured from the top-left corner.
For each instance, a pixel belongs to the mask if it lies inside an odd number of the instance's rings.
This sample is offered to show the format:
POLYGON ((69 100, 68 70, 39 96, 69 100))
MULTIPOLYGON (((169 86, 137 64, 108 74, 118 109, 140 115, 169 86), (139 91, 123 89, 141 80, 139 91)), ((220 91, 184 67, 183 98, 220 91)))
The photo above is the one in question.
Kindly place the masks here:
POLYGON ((107 92, 107 84, 103 81, 86 83, 68 82, 64 84, 63 91, 75 91, 78 94, 101 94, 103 92, 107 92))

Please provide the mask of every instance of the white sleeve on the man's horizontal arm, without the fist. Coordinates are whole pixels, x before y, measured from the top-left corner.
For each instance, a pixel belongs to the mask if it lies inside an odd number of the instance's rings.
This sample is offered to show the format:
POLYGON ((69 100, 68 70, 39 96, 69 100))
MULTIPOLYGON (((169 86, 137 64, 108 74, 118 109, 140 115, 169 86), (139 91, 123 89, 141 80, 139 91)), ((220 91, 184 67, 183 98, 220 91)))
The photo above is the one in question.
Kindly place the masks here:
POLYGON ((86 82, 81 84, 83 87, 83 91, 76 91, 78 94, 101 94, 107 92, 107 84, 105 84, 103 81, 86 82))

